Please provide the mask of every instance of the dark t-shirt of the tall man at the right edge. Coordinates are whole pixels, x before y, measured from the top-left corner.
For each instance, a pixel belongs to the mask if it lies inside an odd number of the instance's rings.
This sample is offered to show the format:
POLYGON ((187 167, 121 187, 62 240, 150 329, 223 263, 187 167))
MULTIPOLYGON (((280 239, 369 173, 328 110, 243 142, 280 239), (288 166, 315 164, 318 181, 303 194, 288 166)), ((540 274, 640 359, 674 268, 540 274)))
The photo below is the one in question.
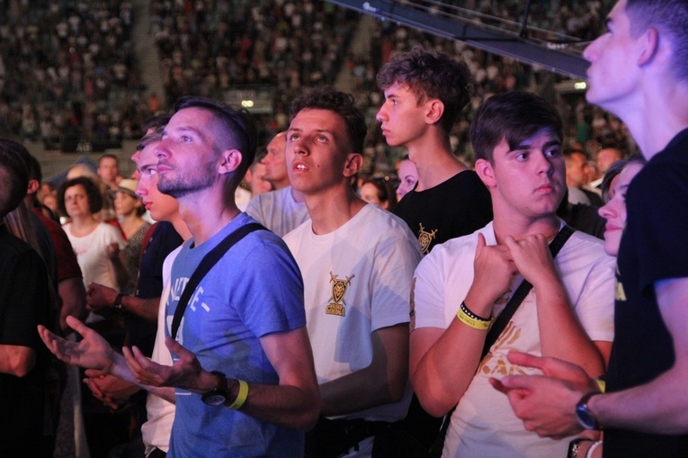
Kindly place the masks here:
MULTIPOLYGON (((617 261, 609 391, 650 382, 675 362, 673 341, 659 312, 653 285, 668 278, 688 277, 686 202, 688 130, 649 161, 626 193, 628 220, 617 261)), ((604 433, 604 456, 688 456, 688 436, 608 429, 604 433)))

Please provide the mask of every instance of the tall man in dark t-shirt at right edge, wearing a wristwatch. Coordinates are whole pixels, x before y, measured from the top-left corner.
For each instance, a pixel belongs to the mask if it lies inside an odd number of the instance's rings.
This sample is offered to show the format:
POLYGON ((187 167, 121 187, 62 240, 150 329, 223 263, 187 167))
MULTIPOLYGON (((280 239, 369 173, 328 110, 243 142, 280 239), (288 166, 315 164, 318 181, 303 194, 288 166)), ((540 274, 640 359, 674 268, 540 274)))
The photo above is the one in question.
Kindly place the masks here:
POLYGON ((685 456, 688 3, 621 0, 606 24, 585 49, 592 63, 587 99, 620 116, 648 158, 626 193, 607 391, 593 390, 576 367, 525 355, 514 361, 557 378, 502 383, 514 411, 541 435, 603 427, 605 458, 685 456))

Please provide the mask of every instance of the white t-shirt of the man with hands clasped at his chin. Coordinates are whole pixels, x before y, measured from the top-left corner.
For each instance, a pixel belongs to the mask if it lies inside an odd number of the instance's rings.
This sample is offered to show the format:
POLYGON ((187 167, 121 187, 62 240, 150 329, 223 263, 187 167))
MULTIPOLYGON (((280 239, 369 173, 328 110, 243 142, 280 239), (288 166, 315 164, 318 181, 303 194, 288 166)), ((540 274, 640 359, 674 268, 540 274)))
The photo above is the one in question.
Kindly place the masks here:
MULTIPOLYGON (((473 282, 478 232, 495 245, 492 223, 473 234, 453 238, 424 257, 415 270, 415 328, 448 328, 473 282)), ((592 340, 613 339, 614 265, 603 242, 576 231, 555 259, 558 274, 583 328, 592 340)), ((517 275, 509 292, 493 309, 501 312, 523 280, 517 275)), ((480 362, 478 373, 451 416, 444 457, 566 456, 570 438, 554 441, 526 431, 506 396, 487 382, 490 377, 540 371, 510 364, 506 355, 519 350, 541 355, 535 293, 528 293, 505 331, 480 362)), ((414 325, 412 325, 414 328, 414 325)))

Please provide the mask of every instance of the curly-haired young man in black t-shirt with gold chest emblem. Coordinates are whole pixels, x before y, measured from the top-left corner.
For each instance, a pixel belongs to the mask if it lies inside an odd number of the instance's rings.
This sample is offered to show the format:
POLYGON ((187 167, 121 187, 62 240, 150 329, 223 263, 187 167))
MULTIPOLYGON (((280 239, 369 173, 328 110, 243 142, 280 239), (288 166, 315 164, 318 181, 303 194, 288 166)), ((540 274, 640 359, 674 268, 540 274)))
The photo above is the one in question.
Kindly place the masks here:
POLYGON ((470 234, 492 220, 487 188, 451 151, 449 134, 469 102, 463 62, 415 48, 380 69, 385 92, 376 119, 390 146, 407 148, 418 183, 394 213, 415 233, 425 254, 434 245, 470 234))

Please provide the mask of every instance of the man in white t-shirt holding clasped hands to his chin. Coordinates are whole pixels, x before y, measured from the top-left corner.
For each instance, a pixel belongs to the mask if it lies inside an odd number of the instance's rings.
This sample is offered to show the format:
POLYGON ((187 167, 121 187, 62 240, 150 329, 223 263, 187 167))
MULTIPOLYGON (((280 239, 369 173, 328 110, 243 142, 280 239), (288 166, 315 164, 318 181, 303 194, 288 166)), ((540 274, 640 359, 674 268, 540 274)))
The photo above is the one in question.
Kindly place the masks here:
POLYGON ((476 171, 494 220, 445 242, 415 271, 409 372, 435 416, 451 411, 442 456, 566 456, 570 438, 526 431, 489 378, 534 373, 509 363, 511 350, 605 372, 613 337, 614 260, 602 241, 575 232, 554 260, 548 243, 563 222, 566 190, 558 113, 541 97, 512 92, 487 100, 471 125, 476 171), (492 319, 519 283, 532 290, 481 360, 492 319))

